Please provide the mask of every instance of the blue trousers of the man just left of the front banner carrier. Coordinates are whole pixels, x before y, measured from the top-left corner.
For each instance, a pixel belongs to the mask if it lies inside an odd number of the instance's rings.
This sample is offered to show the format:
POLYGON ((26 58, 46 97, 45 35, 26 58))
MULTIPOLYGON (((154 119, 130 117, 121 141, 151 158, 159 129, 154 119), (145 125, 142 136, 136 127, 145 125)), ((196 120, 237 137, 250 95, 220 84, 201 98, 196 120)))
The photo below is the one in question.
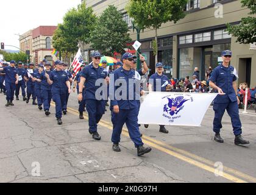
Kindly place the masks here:
POLYGON ((89 118, 89 129, 91 132, 97 132, 97 124, 105 113, 105 101, 87 99, 86 103, 89 118))

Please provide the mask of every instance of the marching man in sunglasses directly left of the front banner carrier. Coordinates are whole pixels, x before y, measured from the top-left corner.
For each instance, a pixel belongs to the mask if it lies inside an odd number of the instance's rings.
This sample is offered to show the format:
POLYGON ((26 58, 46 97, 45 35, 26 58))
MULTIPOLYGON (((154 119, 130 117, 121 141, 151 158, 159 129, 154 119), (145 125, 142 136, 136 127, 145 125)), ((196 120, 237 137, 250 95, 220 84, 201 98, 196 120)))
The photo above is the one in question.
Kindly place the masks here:
POLYGON ((89 118, 89 133, 93 134, 94 140, 101 140, 101 136, 97 130, 97 124, 105 113, 105 100, 97 99, 95 96, 96 90, 99 88, 95 84, 98 79, 105 79, 105 82, 109 83, 109 77, 107 77, 104 68, 99 66, 99 63, 101 62, 101 54, 99 52, 94 52, 92 60, 93 63, 86 66, 81 71, 77 99, 80 102, 85 99, 89 118), (84 84, 85 90, 83 92, 84 84))

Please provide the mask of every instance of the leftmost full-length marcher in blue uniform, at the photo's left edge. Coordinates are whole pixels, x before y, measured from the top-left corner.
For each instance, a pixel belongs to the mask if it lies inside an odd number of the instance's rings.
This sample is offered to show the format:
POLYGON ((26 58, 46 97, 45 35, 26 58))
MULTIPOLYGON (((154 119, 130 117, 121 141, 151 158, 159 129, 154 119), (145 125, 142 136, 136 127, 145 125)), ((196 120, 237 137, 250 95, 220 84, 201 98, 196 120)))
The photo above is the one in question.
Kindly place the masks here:
POLYGON ((4 68, 0 68, 0 71, 5 72, 5 89, 6 89, 6 107, 13 104, 14 91, 16 88, 16 84, 18 84, 18 70, 15 68, 15 61, 12 60, 10 62, 10 66, 5 66, 4 68))

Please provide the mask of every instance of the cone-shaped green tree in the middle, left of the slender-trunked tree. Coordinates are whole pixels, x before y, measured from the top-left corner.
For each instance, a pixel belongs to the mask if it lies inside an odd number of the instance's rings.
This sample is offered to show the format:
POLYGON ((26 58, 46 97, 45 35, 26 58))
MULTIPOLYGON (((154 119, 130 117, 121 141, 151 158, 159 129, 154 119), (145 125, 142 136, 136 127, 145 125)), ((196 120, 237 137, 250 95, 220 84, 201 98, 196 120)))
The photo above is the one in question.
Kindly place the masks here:
POLYGON ((128 25, 114 5, 109 5, 99 17, 91 34, 91 46, 104 55, 123 53, 130 39, 128 25))

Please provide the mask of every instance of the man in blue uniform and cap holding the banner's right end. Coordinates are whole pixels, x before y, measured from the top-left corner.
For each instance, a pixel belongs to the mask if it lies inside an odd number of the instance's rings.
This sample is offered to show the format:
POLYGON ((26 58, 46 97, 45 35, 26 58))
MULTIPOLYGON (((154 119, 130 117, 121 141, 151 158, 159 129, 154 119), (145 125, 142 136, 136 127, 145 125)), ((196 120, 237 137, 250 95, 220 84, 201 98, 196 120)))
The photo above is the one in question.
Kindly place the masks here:
POLYGON ((236 69, 229 65, 232 57, 232 52, 229 50, 222 51, 223 63, 217 66, 210 77, 210 87, 218 90, 218 96, 214 100, 213 110, 215 118, 213 120, 213 132, 215 132, 214 140, 223 143, 220 130, 222 128, 221 120, 225 110, 229 114, 235 134, 235 144, 249 144, 249 141, 244 140, 241 136, 241 121, 239 117, 238 104, 240 103, 237 96, 236 85, 236 69))

